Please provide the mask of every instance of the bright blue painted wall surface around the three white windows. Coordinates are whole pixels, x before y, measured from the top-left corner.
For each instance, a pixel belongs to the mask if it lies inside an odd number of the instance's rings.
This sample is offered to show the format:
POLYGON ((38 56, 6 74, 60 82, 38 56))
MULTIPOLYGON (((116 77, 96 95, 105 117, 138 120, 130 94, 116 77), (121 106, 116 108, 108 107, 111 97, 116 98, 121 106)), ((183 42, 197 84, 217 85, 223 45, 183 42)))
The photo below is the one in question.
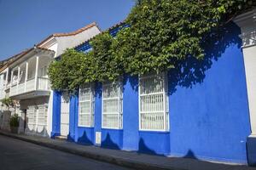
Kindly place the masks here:
MULTIPOLYGON (((125 76, 123 129, 102 129, 102 84, 96 83, 95 126, 78 127, 75 95, 70 104, 70 138, 95 144, 95 133, 102 132, 102 147, 247 163, 250 123, 240 29, 230 24, 215 33, 217 38, 204 43, 205 59, 190 57, 168 72, 170 132, 138 130, 138 78, 125 76)), ((60 122, 59 99, 55 93, 53 126, 60 122)), ((57 126, 53 129, 59 131, 57 126)))

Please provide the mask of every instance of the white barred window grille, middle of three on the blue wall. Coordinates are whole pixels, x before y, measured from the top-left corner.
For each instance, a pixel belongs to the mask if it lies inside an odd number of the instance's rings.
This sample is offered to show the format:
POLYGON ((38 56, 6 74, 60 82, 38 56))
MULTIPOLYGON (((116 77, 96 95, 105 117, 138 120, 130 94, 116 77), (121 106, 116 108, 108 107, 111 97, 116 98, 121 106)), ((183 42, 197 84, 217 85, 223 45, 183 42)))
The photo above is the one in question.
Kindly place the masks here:
POLYGON ((102 127, 123 128, 122 83, 105 83, 102 86, 102 127))

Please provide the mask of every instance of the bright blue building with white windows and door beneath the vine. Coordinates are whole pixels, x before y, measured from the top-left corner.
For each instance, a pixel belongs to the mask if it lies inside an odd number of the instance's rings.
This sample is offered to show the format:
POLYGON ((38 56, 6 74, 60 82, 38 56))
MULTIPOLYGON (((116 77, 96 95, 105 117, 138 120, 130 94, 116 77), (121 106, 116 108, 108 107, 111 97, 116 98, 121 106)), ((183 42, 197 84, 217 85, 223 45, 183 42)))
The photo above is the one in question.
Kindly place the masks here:
MULTIPOLYGON (((255 163, 255 14, 241 14, 219 31, 206 43, 203 60, 191 57, 159 75, 83 84, 70 97, 55 91, 51 137, 164 156, 255 163), (68 132, 63 131, 67 126, 68 132)), ((123 26, 113 26, 110 34, 123 26)), ((76 49, 86 53, 90 43, 76 49)))

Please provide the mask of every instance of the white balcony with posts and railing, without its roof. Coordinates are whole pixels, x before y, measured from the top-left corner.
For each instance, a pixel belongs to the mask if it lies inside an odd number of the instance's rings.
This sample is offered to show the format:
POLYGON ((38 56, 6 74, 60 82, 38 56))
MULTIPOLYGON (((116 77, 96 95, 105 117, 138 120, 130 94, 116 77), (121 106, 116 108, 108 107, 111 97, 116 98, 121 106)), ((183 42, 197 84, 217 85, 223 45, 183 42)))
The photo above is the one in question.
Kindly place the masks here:
POLYGON ((12 99, 30 99, 48 96, 50 85, 47 68, 51 59, 45 54, 33 54, 18 65, 14 65, 10 71, 9 97, 12 99))

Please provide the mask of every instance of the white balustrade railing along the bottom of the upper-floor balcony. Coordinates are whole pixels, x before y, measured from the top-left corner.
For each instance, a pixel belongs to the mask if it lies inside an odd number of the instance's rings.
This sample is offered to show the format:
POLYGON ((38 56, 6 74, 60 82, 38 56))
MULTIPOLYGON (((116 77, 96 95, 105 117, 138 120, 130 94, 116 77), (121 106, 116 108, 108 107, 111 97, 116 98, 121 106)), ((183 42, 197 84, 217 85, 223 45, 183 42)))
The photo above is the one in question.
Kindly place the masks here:
POLYGON ((49 91, 49 78, 46 77, 38 77, 37 78, 37 84, 36 79, 29 79, 26 82, 21 82, 19 84, 14 84, 10 88, 9 96, 15 96, 18 94, 25 94, 28 92, 41 90, 41 91, 49 91))

